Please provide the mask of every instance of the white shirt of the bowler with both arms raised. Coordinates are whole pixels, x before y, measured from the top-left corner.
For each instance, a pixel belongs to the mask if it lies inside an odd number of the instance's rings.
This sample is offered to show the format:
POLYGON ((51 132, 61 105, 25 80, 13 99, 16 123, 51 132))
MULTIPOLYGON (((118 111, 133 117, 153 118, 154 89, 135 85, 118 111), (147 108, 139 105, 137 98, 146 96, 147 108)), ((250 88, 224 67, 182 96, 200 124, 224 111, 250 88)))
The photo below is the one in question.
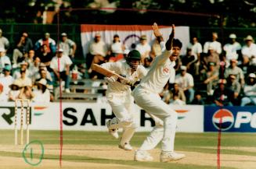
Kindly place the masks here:
POLYGON ((170 61, 170 55, 171 51, 165 50, 162 55, 157 56, 139 85, 153 93, 160 93, 170 77, 175 76, 175 62, 170 61))

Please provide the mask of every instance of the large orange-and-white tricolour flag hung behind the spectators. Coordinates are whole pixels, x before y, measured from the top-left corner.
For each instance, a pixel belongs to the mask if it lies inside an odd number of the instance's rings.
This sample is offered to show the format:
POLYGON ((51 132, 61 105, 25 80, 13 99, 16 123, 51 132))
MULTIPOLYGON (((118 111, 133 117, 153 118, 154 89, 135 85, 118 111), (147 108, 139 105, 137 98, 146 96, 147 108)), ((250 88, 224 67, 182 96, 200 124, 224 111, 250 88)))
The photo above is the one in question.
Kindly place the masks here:
MULTIPOLYGON (((164 40, 168 39, 171 33, 171 26, 158 26, 160 33, 163 34, 164 40)), ((88 44, 95 37, 96 33, 100 33, 101 39, 110 45, 113 41, 114 34, 118 34, 122 43, 127 49, 131 49, 132 44, 139 43, 139 37, 146 35, 150 45, 155 39, 153 35, 152 26, 145 25, 81 25, 81 45, 83 54, 88 54, 88 44)), ((182 41, 181 55, 186 54, 186 48, 189 44, 189 26, 175 26, 175 38, 182 41)))

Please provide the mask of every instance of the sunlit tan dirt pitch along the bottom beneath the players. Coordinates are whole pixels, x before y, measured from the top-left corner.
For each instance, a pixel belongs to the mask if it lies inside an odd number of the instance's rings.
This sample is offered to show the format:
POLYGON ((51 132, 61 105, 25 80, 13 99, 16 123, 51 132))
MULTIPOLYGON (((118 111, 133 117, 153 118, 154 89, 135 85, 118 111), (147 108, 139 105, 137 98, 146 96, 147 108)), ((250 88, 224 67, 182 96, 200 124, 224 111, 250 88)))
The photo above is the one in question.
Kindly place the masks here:
MULTIPOLYGON (((200 147, 200 148, 210 148, 216 149, 216 147, 200 147)), ((255 148, 251 147, 223 147, 224 149, 229 150, 243 150, 248 152, 255 152, 255 148)), ((135 147, 137 149, 137 147, 135 147)), ((0 146, 0 151, 7 152, 21 152, 22 147, 15 146, 0 146)), ((121 164, 96 164, 94 161, 99 159, 108 159, 108 160, 130 160, 132 161, 134 158, 134 150, 125 151, 119 149, 117 146, 96 146, 96 145, 63 145, 63 157, 65 156, 74 156, 72 159, 63 160, 63 168, 140 168, 131 165, 121 165, 121 164), (92 159, 92 163, 88 163, 89 159, 85 159, 86 162, 73 162, 70 160, 75 160, 76 157, 89 157, 92 159)), ((150 151, 151 155, 154 157, 155 162, 159 162, 159 154, 160 150, 152 150, 150 151)), ((177 164, 194 164, 194 165, 202 165, 202 166, 217 166, 217 154, 214 153, 197 153, 197 152, 180 152, 185 153, 186 158, 182 160, 175 161, 173 163, 177 164)), ((45 154, 50 155, 59 155, 59 146, 58 145, 45 145, 45 154)), ((14 157, 5 157, 9 158, 7 160, 12 161, 10 163, 6 163, 6 161, 2 161, 2 157, 0 157, 0 164, 4 162, 5 167, 2 168, 12 168, 6 166, 6 164, 24 164, 22 158, 14 158, 14 157), (20 162, 16 161, 17 159, 20 162)), ((81 160, 80 160, 81 161, 81 160)), ((106 163, 111 163, 107 161, 106 163)), ((59 166, 59 160, 43 160, 40 164, 41 168, 56 168, 59 166), (52 166, 51 166, 52 165, 52 166), (42 166, 42 167, 41 167, 42 166)), ((222 167, 234 167, 240 169, 254 169, 256 166, 256 157, 254 156, 245 156, 245 155, 236 155, 236 154, 221 154, 221 166, 222 167)), ((39 168, 40 168, 39 167, 39 168)), ((13 167, 19 168, 19 167, 13 167)), ((145 167, 143 167, 145 168, 145 167)))

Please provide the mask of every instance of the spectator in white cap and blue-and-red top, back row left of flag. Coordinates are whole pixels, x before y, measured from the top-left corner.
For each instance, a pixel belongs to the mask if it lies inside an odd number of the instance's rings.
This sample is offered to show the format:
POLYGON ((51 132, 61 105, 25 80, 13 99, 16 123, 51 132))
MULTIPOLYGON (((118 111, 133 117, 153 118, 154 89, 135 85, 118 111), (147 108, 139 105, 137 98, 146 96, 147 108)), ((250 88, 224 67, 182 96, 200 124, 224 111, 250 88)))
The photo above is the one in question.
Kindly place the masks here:
POLYGON ((36 43, 34 44, 34 51, 36 52, 39 51, 43 44, 46 44, 48 53, 52 53, 53 55, 55 54, 56 41, 50 37, 50 33, 48 32, 44 33, 44 36, 41 37, 41 39, 36 41, 36 43))

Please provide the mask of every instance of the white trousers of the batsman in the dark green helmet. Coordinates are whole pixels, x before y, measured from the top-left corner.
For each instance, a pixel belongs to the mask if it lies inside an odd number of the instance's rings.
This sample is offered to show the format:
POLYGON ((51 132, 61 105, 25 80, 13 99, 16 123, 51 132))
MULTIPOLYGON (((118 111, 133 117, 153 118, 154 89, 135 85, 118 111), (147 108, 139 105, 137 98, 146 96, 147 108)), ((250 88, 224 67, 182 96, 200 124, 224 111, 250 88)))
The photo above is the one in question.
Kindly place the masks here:
POLYGON ((115 128, 124 129, 121 145, 129 143, 137 127, 134 121, 134 99, 131 91, 128 90, 122 93, 106 92, 106 98, 112 107, 112 111, 119 120, 115 128))

